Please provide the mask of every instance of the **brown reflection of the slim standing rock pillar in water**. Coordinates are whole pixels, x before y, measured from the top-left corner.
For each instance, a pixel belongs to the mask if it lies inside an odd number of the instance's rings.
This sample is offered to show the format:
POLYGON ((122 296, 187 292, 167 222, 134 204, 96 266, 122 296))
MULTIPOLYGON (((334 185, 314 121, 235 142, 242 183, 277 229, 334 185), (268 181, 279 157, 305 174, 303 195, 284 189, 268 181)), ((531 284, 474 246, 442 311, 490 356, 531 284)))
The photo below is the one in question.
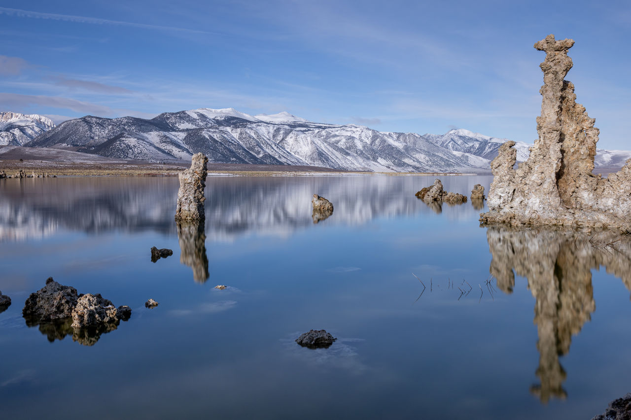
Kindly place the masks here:
POLYGON ((177 238, 180 242, 180 262, 193 269, 196 282, 205 283, 209 274, 204 221, 177 222, 177 238))

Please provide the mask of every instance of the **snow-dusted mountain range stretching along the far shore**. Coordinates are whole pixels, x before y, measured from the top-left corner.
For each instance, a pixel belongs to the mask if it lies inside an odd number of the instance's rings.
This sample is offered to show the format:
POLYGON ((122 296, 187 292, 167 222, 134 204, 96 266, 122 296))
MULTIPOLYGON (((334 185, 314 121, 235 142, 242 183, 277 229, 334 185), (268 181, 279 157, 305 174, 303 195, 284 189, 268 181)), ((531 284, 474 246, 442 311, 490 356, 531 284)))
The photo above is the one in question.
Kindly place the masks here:
MULTIPOLYGON (((0 144, 146 161, 190 160, 201 151, 211 163, 369 172, 488 172, 507 141, 464 129, 442 135, 381 132, 310 122, 286 112, 253 116, 233 108, 165 112, 153 119, 87 115, 57 126, 40 115, 0 113, 0 121, 0 144)), ((517 142, 517 160, 528 158, 529 146, 517 142)), ((628 151, 599 150, 596 166, 622 166, 628 158, 628 151)))

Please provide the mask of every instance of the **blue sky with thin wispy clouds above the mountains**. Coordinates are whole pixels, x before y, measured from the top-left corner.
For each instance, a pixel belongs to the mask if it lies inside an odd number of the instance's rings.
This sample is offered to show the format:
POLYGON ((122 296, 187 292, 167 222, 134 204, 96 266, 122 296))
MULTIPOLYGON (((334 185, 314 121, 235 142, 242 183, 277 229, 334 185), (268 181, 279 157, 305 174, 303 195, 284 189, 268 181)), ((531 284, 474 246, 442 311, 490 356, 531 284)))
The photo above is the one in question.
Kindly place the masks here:
POLYGON ((627 1, 0 0, 0 111, 59 123, 195 108, 533 143, 545 53, 631 149, 627 1))

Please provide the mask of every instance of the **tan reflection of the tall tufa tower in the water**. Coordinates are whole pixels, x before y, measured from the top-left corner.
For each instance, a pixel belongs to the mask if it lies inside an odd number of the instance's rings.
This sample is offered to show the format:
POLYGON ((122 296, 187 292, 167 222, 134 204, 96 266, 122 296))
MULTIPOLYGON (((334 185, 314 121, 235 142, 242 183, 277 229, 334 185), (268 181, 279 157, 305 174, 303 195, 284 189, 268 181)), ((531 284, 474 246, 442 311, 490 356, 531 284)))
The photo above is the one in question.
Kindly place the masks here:
POLYGON ((543 402, 565 398, 562 383, 566 374, 559 356, 569 352, 572 335, 581 331, 596 310, 591 269, 604 265, 631 289, 631 240, 608 231, 590 235, 506 226, 489 227, 487 240, 493 257, 490 272, 497 285, 512 293, 515 274, 526 277, 536 299, 534 323, 540 352, 536 375, 541 383, 533 385, 531 392, 543 402))

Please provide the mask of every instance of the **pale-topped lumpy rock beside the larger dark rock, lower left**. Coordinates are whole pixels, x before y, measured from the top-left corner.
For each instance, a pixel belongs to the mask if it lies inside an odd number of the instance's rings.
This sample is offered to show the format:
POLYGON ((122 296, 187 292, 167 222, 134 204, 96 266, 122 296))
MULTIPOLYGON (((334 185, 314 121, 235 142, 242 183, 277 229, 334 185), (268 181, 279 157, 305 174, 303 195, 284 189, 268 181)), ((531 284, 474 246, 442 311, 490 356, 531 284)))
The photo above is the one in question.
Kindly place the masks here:
POLYGON ((100 294, 87 293, 79 298, 73 310, 73 327, 94 327, 101 324, 117 323, 124 317, 129 318, 131 308, 116 308, 112 301, 103 299, 100 294), (120 312, 120 313, 119 313, 120 312))

